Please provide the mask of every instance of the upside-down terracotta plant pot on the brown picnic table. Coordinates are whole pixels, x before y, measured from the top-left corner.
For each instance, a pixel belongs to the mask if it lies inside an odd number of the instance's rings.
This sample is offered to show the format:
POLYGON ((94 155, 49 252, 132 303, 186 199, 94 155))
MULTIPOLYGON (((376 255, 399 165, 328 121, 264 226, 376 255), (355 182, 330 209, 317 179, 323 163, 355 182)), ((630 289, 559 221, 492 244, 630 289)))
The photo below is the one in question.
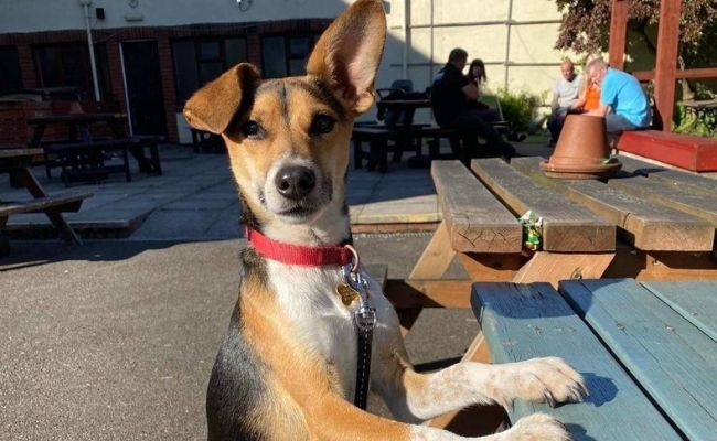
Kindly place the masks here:
POLYGON ((541 170, 550 178, 608 178, 622 164, 610 158, 610 144, 604 118, 590 115, 568 115, 550 159, 541 170))

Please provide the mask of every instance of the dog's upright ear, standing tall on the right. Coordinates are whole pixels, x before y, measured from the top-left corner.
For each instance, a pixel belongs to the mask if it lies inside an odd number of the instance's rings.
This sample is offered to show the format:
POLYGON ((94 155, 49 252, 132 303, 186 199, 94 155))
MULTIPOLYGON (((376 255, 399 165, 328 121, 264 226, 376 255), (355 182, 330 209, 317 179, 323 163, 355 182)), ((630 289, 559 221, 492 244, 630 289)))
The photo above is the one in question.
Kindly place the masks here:
POLYGON ((333 94, 356 114, 374 103, 374 79, 386 41, 379 0, 357 0, 321 35, 307 73, 329 82, 333 94))

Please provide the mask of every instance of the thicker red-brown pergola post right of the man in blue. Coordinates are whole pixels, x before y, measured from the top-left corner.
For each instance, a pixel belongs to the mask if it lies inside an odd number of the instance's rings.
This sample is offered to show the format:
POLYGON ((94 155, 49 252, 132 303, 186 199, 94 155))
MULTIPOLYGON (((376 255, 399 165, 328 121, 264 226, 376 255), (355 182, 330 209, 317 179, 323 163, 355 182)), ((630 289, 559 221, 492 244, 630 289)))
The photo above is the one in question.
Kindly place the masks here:
POLYGON ((653 117, 653 120, 662 125, 661 128, 663 131, 670 131, 672 128, 681 13, 681 0, 662 0, 660 2, 657 58, 655 61, 654 83, 657 115, 653 117))

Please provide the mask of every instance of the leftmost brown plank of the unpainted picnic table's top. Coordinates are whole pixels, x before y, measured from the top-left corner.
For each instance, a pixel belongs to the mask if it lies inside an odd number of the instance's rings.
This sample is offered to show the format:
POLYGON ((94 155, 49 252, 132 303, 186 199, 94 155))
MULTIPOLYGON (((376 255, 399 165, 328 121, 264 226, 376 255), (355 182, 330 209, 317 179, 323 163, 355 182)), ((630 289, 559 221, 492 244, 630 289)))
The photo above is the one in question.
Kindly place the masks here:
POLYGON ((434 161, 431 176, 459 252, 520 252, 521 224, 459 161, 434 161))

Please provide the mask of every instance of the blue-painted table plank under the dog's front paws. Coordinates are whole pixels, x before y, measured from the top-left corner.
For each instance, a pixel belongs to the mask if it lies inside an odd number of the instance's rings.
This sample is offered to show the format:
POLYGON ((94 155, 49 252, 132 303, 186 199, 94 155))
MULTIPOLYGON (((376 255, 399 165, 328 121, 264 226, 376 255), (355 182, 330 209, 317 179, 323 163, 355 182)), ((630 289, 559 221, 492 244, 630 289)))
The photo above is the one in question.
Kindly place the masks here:
POLYGON ((565 423, 574 440, 681 439, 549 284, 479 282, 471 303, 494 363, 559 356, 590 389, 584 402, 556 409, 516 401, 512 421, 541 411, 565 423))

